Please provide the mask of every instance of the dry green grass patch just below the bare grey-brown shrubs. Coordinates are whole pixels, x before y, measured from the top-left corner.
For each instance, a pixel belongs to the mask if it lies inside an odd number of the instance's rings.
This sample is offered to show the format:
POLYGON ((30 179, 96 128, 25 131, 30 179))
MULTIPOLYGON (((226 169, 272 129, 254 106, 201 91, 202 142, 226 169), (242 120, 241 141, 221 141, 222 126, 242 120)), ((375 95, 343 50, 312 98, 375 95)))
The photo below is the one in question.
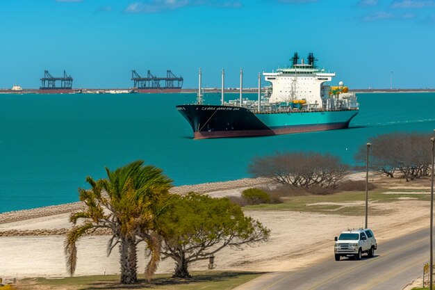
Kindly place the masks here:
MULTIPOLYGON (((407 194, 385 194, 389 191, 386 188, 377 188, 368 193, 369 202, 395 202, 399 198, 415 198, 416 200, 429 200, 430 195, 407 194)), ((413 190, 410 190, 413 191, 413 190)), ((299 195, 281 198, 284 202, 281 204, 256 204, 244 207, 249 210, 288 210, 300 212, 315 212, 321 214, 341 214, 347 216, 359 216, 364 213, 363 204, 349 204, 350 202, 363 202, 366 200, 364 191, 344 191, 332 195, 299 195), (324 204, 319 204, 324 203, 324 204)), ((388 211, 371 209, 372 214, 387 214, 388 211)))

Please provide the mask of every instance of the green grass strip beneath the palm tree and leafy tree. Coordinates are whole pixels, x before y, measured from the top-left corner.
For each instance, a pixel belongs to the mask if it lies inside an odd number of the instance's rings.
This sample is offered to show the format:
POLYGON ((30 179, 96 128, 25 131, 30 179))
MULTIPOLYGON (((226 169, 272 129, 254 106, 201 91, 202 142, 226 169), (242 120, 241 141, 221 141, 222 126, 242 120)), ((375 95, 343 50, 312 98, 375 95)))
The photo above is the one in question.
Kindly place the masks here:
POLYGON ((139 275, 139 283, 133 285, 120 284, 119 275, 95 275, 65 277, 63 279, 33 278, 19 282, 19 290, 30 289, 71 289, 71 290, 97 290, 97 289, 155 289, 155 290, 221 290, 233 289, 241 284, 263 275, 254 272, 192 272, 190 279, 175 279, 170 274, 156 275, 154 280, 147 283, 143 275, 139 275))

